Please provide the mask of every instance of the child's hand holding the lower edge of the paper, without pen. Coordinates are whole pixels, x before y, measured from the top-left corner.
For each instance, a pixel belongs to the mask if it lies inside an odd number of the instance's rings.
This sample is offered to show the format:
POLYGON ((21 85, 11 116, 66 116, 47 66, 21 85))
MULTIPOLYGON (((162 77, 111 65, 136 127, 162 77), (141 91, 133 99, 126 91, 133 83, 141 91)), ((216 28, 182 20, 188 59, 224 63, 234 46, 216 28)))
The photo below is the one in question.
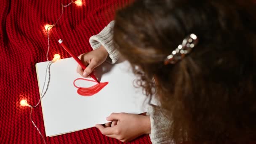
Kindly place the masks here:
POLYGON ((102 134, 123 142, 131 141, 151 131, 149 116, 112 113, 107 120, 113 121, 114 124, 107 123, 105 127, 97 124, 96 128, 99 128, 102 134))

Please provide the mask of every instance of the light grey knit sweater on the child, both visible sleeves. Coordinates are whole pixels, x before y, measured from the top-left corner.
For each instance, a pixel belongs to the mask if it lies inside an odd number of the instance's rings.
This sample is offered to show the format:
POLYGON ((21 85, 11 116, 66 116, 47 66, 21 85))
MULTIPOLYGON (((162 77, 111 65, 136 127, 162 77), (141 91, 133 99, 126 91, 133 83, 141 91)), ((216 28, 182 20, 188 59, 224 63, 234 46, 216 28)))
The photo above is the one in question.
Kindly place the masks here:
MULTIPOLYGON (((112 28, 115 21, 111 21, 99 34, 90 37, 90 44, 93 50, 99 48, 101 45, 109 53, 107 61, 114 64, 118 59, 117 45, 113 40, 112 28)), ((151 133, 149 134, 152 144, 173 144, 173 141, 165 133, 168 131, 170 121, 162 114, 159 107, 149 105, 147 108, 147 115, 150 117, 151 133)))

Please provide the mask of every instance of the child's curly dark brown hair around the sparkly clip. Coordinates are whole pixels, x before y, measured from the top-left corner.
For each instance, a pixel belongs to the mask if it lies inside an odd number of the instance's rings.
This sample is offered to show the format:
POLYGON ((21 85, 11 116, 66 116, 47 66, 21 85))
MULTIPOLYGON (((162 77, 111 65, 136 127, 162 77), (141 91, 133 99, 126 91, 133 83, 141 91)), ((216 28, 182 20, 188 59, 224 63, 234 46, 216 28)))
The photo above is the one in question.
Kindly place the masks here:
POLYGON ((176 142, 253 139, 253 1, 136 0, 117 12, 114 40, 140 75, 139 84, 146 94, 152 97, 157 89, 161 108, 172 121, 167 135, 176 142), (190 33, 197 35, 198 45, 178 63, 164 65, 166 56, 190 33))

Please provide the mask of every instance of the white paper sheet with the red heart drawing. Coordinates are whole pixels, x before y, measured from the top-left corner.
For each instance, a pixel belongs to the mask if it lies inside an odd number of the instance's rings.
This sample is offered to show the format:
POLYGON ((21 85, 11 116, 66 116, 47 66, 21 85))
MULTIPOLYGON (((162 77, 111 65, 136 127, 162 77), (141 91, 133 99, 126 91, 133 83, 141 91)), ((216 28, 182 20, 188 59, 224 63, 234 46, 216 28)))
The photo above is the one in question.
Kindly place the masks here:
MULTIPOLYGON (((36 64, 40 93, 47 64, 48 62, 36 64)), ((77 94, 77 88, 73 85, 73 81, 81 77, 76 68, 77 63, 72 58, 51 64, 49 87, 41 101, 46 136, 56 136, 91 128, 97 123, 107 123, 106 117, 112 112, 146 112, 148 100, 142 94, 141 88, 134 88, 136 77, 127 61, 118 64, 104 63, 97 68, 96 77, 101 82, 108 81, 109 84, 99 93, 88 97, 77 94)), ((83 80, 76 82, 80 87, 94 84, 96 83, 83 80)))

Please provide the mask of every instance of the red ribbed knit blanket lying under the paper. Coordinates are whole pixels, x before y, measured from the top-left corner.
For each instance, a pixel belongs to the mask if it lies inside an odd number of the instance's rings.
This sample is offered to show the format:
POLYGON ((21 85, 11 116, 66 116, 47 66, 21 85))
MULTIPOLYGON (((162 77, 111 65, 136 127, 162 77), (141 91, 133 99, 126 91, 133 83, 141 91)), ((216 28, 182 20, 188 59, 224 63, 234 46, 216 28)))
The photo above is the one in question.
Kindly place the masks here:
MULTIPOLYGON (((46 61, 48 47, 45 24, 53 24, 61 14, 61 3, 71 0, 1 0, 0 8, 0 144, 41 144, 43 139, 29 120, 29 107, 21 107, 25 98, 31 105, 39 100, 35 64, 46 61)), ((50 30, 49 59, 55 53, 70 57, 58 40, 72 45, 73 52, 91 51, 89 37, 101 31, 115 10, 131 0, 83 0, 64 8, 56 27, 50 30)), ((33 120, 45 136, 41 106, 33 109, 33 120)), ((104 136, 97 128, 45 138, 47 144, 121 144, 104 136)), ((150 144, 148 135, 130 144, 150 144)))

